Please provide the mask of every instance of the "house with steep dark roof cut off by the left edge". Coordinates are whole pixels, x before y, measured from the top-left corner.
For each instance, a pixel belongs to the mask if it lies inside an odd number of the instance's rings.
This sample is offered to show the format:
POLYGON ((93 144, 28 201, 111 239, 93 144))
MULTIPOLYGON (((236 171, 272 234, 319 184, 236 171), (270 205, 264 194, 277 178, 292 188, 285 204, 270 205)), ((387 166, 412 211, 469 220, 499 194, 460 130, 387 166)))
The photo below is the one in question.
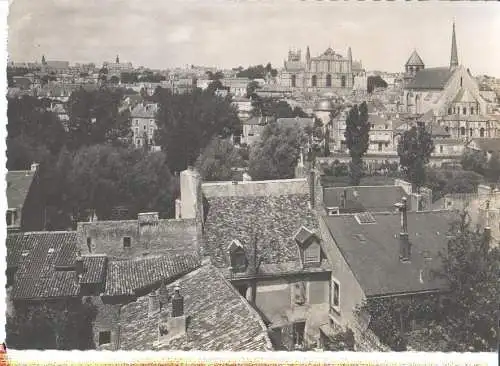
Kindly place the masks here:
POLYGON ((33 231, 45 227, 39 165, 7 172, 7 230, 33 231))

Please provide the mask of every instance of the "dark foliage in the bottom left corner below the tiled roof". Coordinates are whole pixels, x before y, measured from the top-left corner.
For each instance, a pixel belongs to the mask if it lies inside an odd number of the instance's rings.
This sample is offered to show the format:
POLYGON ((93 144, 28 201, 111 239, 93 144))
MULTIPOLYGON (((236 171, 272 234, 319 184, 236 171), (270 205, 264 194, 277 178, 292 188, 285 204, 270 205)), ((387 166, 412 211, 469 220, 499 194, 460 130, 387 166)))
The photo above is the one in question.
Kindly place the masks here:
POLYGON ((92 322, 97 309, 91 303, 71 304, 65 309, 49 304, 18 308, 7 315, 9 347, 23 349, 95 349, 92 322))

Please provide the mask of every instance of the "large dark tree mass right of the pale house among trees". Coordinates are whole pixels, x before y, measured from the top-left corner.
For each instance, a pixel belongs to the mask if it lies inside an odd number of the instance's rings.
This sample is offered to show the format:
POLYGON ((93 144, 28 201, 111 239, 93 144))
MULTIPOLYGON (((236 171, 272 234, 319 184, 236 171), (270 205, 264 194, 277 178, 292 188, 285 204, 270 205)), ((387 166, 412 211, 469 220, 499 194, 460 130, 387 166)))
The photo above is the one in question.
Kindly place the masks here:
POLYGON ((161 89, 157 98, 160 108, 155 142, 167 154, 174 171, 194 163, 214 136, 226 138, 241 129, 230 98, 199 89, 191 94, 161 89))

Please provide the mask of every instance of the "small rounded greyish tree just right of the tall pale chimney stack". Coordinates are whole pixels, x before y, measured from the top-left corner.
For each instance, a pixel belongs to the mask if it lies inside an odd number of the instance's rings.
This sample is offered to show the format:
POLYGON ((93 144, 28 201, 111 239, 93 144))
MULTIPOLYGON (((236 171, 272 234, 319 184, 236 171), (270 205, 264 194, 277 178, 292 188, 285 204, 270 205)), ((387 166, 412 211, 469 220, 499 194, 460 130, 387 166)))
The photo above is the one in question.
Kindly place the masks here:
POLYGON ((227 139, 215 137, 202 151, 196 167, 204 181, 227 181, 233 178, 233 168, 243 164, 240 153, 227 139))

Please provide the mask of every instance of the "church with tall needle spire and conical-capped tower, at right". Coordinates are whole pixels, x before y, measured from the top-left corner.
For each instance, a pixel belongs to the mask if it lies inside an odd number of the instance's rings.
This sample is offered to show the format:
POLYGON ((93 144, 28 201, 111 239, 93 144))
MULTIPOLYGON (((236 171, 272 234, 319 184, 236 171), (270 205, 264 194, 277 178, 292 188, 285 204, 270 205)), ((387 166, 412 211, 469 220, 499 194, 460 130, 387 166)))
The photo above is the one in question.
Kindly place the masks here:
POLYGON ((492 103, 482 95, 469 69, 459 64, 455 23, 450 63, 425 67, 417 51, 405 64, 403 112, 432 113, 434 121, 455 138, 496 137, 498 122, 488 117, 492 103))

